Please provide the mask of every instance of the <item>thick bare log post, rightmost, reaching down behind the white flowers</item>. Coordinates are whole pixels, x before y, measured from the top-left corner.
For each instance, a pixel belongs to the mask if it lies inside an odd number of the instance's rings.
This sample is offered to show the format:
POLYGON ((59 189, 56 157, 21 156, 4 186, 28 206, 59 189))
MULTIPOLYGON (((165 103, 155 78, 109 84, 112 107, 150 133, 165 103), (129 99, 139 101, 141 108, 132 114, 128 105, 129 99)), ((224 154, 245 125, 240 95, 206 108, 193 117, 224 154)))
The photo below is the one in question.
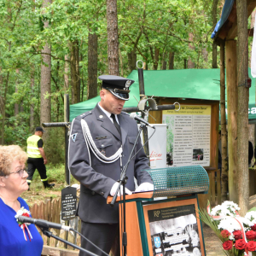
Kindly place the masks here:
POLYGON ((238 108, 237 108, 237 159, 238 165, 238 205, 241 216, 249 206, 248 172, 248 44, 247 44, 247 1, 237 0, 237 39, 238 39, 238 108))

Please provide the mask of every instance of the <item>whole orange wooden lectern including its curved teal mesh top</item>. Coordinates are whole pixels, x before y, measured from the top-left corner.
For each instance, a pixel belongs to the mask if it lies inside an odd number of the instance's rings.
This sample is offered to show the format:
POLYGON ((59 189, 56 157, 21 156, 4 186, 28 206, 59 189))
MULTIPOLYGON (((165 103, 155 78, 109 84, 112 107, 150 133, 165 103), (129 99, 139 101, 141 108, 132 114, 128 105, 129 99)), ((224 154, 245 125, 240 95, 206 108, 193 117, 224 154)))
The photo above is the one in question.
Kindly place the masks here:
MULTIPOLYGON (((201 166, 147 170, 154 191, 126 195, 128 256, 206 256, 198 193, 207 193, 209 178, 201 166)), ((108 197, 108 204, 112 197, 108 197)), ((119 227, 122 237, 123 205, 119 227)), ((120 239, 122 250, 122 241, 120 239)), ((122 255, 122 252, 120 253, 122 255)))

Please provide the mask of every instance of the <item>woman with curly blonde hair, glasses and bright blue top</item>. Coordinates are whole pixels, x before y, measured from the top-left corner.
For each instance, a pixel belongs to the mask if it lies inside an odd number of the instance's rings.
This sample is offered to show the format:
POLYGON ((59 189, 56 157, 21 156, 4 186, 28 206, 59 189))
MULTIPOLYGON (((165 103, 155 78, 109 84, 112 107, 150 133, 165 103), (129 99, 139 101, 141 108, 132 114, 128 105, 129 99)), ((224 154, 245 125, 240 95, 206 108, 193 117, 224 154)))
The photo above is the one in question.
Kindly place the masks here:
POLYGON ((15 145, 0 146, 0 255, 40 256, 43 239, 34 224, 18 223, 17 216, 31 217, 20 195, 28 189, 26 153, 15 145))

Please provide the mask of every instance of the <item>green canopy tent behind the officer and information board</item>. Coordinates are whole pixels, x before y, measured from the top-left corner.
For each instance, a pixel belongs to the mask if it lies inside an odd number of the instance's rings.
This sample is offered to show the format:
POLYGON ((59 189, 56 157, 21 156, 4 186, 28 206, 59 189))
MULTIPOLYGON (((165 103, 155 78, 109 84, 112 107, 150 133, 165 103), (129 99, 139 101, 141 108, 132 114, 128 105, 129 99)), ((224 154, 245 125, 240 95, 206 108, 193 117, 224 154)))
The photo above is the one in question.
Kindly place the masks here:
MULTIPOLYGON (((251 70, 248 70, 251 75, 251 70)), ((133 70, 128 76, 135 80, 131 84, 130 100, 125 102, 124 108, 137 107, 139 101, 139 84, 137 70, 133 70)), ((219 101, 219 78, 218 68, 212 69, 172 69, 172 70, 144 70, 144 84, 146 96, 198 99, 219 101)), ((249 123, 256 123, 255 107, 255 79, 252 79, 252 87, 249 90, 249 123)), ((95 108, 100 102, 100 96, 88 101, 70 106, 70 120, 86 111, 95 108)))

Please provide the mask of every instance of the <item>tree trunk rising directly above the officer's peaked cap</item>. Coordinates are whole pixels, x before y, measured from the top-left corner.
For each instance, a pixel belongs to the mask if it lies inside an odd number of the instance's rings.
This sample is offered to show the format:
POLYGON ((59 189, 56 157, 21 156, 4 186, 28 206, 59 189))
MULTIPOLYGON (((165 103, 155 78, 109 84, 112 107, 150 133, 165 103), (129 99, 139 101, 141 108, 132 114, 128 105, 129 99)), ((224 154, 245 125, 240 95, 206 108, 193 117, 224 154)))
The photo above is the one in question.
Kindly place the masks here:
POLYGON ((107 0, 108 74, 119 76, 117 0, 107 0))

